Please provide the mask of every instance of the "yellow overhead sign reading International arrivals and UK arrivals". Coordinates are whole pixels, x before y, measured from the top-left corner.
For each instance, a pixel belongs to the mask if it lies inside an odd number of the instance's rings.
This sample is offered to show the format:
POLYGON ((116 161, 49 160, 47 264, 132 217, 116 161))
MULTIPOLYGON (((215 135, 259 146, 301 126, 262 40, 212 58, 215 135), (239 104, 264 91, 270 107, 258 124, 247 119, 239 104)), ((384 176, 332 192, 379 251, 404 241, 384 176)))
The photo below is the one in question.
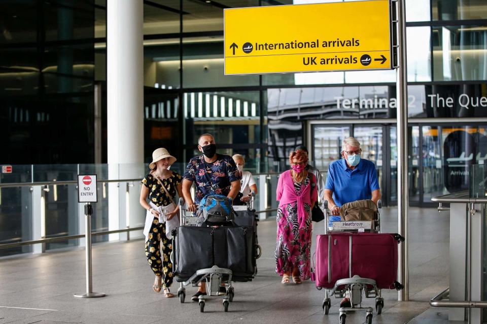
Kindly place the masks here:
POLYGON ((390 0, 225 9, 225 74, 390 69, 390 0))

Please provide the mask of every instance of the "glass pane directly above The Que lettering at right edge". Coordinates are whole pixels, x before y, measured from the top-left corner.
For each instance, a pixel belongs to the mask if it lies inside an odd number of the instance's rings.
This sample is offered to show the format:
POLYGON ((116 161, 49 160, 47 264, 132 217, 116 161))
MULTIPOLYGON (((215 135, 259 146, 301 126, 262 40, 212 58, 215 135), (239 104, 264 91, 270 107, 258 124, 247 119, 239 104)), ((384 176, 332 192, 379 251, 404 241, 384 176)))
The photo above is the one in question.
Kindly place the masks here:
POLYGON ((487 79, 487 26, 433 27, 435 81, 487 79))

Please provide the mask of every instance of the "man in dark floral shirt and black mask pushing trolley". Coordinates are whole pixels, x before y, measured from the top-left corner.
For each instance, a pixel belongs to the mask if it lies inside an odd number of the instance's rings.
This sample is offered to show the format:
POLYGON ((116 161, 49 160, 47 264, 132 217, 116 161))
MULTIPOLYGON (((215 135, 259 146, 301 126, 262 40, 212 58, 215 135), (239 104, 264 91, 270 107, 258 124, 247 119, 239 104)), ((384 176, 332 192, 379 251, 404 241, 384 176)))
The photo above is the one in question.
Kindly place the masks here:
MULTIPOLYGON (((199 201, 208 194, 221 194, 234 199, 240 191, 241 175, 233 158, 218 154, 215 138, 203 134, 198 138, 198 150, 203 154, 193 157, 186 167, 183 176, 183 196, 188 204, 188 211, 195 212, 199 201), (191 197, 191 186, 196 184, 195 201, 191 197)), ((222 293, 225 287, 222 287, 222 293)), ((198 301, 200 295, 206 295, 205 285, 191 298, 198 301)))

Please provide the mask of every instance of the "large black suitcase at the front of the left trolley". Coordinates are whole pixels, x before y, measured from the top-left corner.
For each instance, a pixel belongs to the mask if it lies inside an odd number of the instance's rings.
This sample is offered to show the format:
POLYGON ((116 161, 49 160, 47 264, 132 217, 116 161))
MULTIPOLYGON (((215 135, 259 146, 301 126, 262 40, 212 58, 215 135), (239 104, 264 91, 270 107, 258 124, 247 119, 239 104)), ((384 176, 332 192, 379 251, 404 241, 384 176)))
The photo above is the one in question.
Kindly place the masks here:
POLYGON ((173 235, 173 269, 178 282, 188 280, 199 269, 232 270, 232 280, 249 281, 255 272, 254 227, 180 226, 173 235))

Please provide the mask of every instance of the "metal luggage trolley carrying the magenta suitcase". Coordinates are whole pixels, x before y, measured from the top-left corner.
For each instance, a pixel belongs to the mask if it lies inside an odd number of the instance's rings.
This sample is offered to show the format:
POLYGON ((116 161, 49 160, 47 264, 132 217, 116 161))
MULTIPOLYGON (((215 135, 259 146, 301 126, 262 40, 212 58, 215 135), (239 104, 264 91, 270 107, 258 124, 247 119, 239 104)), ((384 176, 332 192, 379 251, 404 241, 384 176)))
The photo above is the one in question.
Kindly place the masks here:
MULTIPOLYGON (((373 221, 356 221, 361 225, 353 226, 352 228, 345 227, 344 223, 347 222, 332 222, 332 226, 329 226, 330 215, 328 213, 328 201, 324 201, 325 209, 325 221, 326 229, 325 234, 330 234, 333 232, 359 232, 368 231, 371 233, 380 233, 380 210, 382 209, 381 200, 377 201, 377 216, 373 221), (336 225, 336 226, 335 226, 336 225), (363 226, 363 227, 362 227, 363 226)), ((318 288, 321 290, 322 288, 318 288)), ((323 312, 328 314, 331 307, 331 300, 329 296, 334 296, 335 298, 343 298, 345 293, 349 293, 351 307, 340 307, 339 308, 339 320, 340 324, 345 324, 346 312, 353 312, 358 310, 365 310, 365 322, 366 324, 372 323, 372 307, 362 307, 362 296, 366 298, 375 297, 375 310, 377 314, 382 312, 382 307, 384 307, 384 298, 381 297, 381 290, 377 289, 375 280, 370 278, 362 278, 358 275, 354 275, 352 278, 344 278, 337 280, 332 289, 325 289, 325 298, 323 298, 323 312)))

